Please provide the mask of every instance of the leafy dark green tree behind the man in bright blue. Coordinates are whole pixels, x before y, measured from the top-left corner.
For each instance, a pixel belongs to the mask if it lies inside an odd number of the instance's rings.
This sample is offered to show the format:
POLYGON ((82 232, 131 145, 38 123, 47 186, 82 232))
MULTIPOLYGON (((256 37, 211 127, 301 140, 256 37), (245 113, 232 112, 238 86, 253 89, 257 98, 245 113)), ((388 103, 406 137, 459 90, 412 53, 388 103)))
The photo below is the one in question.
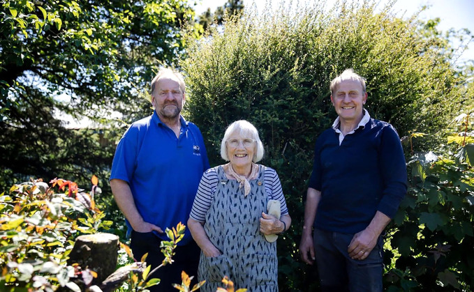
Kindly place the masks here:
POLYGON ((56 113, 97 123, 113 111, 125 122, 149 114, 140 92, 182 52, 181 26, 198 33, 193 16, 186 0, 2 1, 0 187, 27 176, 82 183, 108 168, 120 133, 67 130, 56 113))

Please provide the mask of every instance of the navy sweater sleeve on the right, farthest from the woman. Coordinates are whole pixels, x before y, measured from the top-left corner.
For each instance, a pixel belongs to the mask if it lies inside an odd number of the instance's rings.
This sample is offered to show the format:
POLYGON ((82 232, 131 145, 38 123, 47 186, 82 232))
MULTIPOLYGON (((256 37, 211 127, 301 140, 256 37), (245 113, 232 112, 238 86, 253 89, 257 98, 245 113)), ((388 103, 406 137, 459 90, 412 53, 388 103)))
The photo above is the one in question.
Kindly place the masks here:
POLYGON ((387 125, 383 129, 379 169, 383 179, 383 194, 377 210, 393 218, 406 194, 407 177, 403 148, 399 135, 392 125, 387 125))

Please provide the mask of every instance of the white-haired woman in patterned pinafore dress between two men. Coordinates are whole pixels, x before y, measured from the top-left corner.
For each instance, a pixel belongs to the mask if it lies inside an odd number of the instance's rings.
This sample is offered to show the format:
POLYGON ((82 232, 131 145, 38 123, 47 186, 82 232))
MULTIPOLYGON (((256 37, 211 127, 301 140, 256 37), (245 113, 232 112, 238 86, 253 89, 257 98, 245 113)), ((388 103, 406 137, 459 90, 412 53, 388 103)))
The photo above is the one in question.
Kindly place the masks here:
POLYGON ((235 121, 221 142, 227 164, 208 169, 196 194, 188 228, 201 248, 201 291, 216 291, 224 276, 249 291, 278 291, 276 238, 291 224, 274 169, 263 157, 257 129, 235 121))

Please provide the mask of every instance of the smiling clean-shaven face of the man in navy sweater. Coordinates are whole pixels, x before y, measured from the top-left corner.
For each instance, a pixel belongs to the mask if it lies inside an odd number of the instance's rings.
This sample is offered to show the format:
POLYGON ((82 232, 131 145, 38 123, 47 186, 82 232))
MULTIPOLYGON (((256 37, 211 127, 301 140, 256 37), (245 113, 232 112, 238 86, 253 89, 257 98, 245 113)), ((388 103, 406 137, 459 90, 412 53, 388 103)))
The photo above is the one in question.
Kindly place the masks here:
POLYGON ((367 100, 367 93, 362 84, 355 79, 345 79, 336 87, 331 101, 341 123, 357 123, 362 120, 362 109, 367 100))

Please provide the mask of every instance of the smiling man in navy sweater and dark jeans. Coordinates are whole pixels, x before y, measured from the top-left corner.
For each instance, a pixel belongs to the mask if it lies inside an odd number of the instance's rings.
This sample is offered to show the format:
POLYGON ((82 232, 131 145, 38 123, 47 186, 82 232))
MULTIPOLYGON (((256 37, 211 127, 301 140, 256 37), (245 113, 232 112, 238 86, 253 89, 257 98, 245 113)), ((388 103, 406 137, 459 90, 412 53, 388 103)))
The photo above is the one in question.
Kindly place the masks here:
POLYGON ((390 123, 364 109, 365 79, 332 80, 338 118, 318 137, 304 210, 303 261, 316 261, 322 291, 382 291, 383 231, 406 194, 406 164, 390 123))

